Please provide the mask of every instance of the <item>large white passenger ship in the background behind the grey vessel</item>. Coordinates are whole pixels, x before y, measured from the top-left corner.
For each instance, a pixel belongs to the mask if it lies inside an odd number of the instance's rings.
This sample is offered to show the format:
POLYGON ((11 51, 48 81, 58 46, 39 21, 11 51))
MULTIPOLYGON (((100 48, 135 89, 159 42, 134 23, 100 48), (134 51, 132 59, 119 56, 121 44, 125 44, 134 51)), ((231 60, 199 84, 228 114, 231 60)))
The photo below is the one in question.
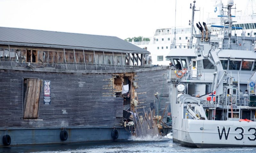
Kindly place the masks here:
MULTIPOLYGON (((207 18, 206 24, 212 35, 223 35, 223 33, 227 33, 227 31, 220 31, 219 27, 212 27, 211 25, 223 25, 221 24, 221 12, 223 3, 217 2, 215 6, 212 7, 212 10, 215 11, 215 18, 207 18), (219 17, 217 17, 219 15, 219 17)), ((246 3, 246 2, 245 2, 246 3)), ((232 29, 232 35, 234 36, 256 36, 256 14, 253 13, 254 8, 254 0, 249 0, 247 2, 246 14, 241 11, 235 12, 233 17, 233 27, 239 27, 243 29, 232 29)), ((224 19, 224 18, 223 18, 224 19)), ((150 52, 149 55, 149 64, 154 65, 169 65, 170 60, 168 57, 168 53, 171 48, 188 48, 189 41, 191 38, 191 22, 189 22, 188 26, 176 27, 176 45, 174 45, 174 31, 175 27, 171 28, 162 28, 156 29, 154 36, 150 37, 150 41, 139 41, 132 42, 134 45, 145 48, 150 52)), ((195 34, 199 34, 199 30, 196 28, 194 30, 195 34)), ((195 43, 194 39, 192 43, 195 43)), ((241 44, 242 45, 242 44, 241 44)))

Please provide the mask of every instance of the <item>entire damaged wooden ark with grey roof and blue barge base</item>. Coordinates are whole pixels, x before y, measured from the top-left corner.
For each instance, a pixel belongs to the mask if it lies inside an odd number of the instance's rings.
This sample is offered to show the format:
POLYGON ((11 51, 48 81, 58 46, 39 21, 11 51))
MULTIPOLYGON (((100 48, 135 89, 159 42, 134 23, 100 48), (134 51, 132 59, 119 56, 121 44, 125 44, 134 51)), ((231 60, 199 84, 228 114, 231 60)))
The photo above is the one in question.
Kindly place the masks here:
POLYGON ((143 108, 166 120, 168 67, 147 64, 148 51, 112 36, 0 33, 0 146, 126 140, 124 121, 143 108))

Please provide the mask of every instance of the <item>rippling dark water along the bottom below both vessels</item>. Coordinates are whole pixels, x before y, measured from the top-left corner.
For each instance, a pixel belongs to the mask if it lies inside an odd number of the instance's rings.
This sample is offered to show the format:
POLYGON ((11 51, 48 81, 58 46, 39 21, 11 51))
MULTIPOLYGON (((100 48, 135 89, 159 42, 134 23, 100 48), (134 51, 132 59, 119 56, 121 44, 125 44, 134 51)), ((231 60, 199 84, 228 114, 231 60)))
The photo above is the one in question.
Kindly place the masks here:
POLYGON ((76 143, 37 145, 22 147, 0 148, 1 153, 213 153, 213 152, 255 152, 256 148, 187 148, 172 142, 172 135, 164 138, 135 138, 123 142, 98 142, 98 143, 76 143))

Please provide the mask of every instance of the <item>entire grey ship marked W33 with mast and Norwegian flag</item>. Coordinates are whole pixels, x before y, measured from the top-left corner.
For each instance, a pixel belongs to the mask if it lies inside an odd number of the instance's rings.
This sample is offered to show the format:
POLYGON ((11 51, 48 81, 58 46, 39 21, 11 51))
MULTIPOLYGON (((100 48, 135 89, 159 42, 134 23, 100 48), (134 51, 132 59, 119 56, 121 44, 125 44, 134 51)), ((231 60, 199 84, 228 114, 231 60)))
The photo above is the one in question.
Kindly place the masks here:
POLYGON ((223 35, 197 23, 192 48, 171 49, 168 72, 173 142, 190 147, 255 147, 255 37, 232 36, 228 1, 223 35))

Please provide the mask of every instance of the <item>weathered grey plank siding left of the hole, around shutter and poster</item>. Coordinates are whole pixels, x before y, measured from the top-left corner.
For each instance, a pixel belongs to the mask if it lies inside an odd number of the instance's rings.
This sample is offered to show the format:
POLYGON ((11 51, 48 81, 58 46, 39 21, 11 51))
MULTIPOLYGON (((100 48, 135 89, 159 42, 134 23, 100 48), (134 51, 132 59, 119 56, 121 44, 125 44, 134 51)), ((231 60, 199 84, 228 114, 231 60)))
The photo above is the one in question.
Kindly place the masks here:
POLYGON ((0 127, 118 126, 123 98, 113 92, 112 74, 0 70, 0 127), (51 104, 40 93, 38 119, 23 119, 23 78, 51 81, 51 104))

